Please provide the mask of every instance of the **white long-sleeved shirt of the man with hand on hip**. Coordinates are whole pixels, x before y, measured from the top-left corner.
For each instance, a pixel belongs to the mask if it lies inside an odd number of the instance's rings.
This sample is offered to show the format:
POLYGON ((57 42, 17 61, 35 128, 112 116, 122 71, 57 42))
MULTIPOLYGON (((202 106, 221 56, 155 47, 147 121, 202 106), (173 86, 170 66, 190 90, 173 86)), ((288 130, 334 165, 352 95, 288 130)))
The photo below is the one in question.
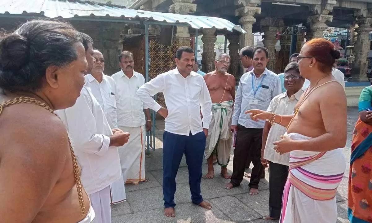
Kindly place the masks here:
POLYGON ((195 135, 208 129, 212 118, 212 101, 204 78, 194 71, 184 78, 178 69, 157 75, 142 85, 138 96, 151 109, 161 109, 152 96, 163 92, 168 109, 165 131, 178 135, 195 135), (200 117, 200 111, 203 119, 200 117))

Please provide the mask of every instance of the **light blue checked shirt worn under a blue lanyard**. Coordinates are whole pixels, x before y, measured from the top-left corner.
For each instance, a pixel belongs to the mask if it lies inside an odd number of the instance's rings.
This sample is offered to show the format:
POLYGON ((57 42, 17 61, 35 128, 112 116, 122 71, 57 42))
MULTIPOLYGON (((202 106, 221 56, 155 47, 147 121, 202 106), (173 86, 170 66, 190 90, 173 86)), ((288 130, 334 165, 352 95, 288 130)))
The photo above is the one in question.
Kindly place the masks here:
POLYGON ((263 129, 264 120, 253 121, 249 117, 249 114, 244 114, 244 112, 250 109, 266 111, 270 105, 270 101, 282 93, 282 88, 280 79, 274 72, 266 68, 263 74, 259 78, 256 78, 253 71, 251 70, 243 74, 240 78, 238 90, 235 95, 234 114, 232 115, 231 125, 240 124, 246 128, 263 129), (252 77, 254 88, 252 87, 252 77), (258 88, 256 96, 254 96, 253 89, 257 89, 260 84, 261 87, 258 88), (264 88, 265 86, 268 88, 264 88), (257 100, 258 104, 249 104, 250 100, 257 100))

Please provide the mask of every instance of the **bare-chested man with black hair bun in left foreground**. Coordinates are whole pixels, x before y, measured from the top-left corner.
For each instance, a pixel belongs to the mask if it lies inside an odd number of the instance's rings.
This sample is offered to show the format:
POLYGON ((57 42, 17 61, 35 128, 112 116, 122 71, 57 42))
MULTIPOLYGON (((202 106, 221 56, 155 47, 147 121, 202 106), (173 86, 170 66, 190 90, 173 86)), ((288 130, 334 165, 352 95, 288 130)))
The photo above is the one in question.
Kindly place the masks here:
POLYGON ((53 114, 73 106, 84 85, 81 41, 67 23, 34 20, 0 42, 0 222, 93 221, 67 130, 53 114))

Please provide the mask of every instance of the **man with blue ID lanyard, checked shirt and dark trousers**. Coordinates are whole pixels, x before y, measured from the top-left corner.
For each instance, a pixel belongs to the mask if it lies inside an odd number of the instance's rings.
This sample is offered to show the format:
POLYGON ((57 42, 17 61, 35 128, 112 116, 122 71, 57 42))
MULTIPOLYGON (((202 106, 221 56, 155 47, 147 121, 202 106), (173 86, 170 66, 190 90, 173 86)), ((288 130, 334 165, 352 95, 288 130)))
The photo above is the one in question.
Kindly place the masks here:
POLYGON ((270 101, 281 90, 278 75, 267 70, 269 53, 263 47, 256 47, 253 51, 253 70, 243 74, 240 78, 235 96, 234 114, 232 115, 231 131, 236 129, 234 162, 231 181, 226 189, 240 185, 244 176, 244 167, 248 154, 251 155, 253 169, 249 183, 250 195, 259 194, 258 184, 261 178, 261 145, 264 121, 253 121, 245 111, 249 109, 266 110, 270 101))

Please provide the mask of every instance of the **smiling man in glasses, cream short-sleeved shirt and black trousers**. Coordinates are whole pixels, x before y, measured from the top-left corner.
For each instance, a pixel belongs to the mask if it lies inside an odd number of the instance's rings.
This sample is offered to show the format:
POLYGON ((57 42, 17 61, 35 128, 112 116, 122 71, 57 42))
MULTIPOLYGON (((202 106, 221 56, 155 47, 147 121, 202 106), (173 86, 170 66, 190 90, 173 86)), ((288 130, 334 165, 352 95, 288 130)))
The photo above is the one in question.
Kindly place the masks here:
MULTIPOLYGON (((295 105, 304 91, 301 89, 305 78, 299 73, 298 64, 290 62, 284 69, 284 87, 286 92, 271 100, 268 112, 281 115, 293 114, 295 105)), ((284 186, 288 177, 289 153, 280 155, 274 150, 274 142, 284 135, 286 128, 270 122, 265 122, 262 133, 261 163, 264 167, 270 165, 269 174, 269 215, 264 220, 279 219, 282 210, 284 186)))

